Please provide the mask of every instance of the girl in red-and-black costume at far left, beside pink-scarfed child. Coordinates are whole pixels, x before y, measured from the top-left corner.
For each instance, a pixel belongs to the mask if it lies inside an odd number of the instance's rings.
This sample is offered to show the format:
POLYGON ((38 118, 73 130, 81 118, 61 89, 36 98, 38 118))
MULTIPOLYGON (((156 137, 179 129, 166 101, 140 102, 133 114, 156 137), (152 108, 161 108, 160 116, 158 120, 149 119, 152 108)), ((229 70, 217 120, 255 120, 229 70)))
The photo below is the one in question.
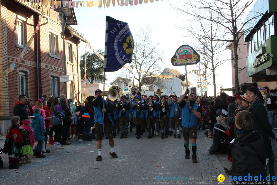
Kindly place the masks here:
POLYGON ((17 169, 19 164, 19 154, 21 153, 22 137, 19 131, 19 116, 12 117, 12 123, 7 130, 6 141, 4 145, 4 153, 9 156, 9 169, 17 169))

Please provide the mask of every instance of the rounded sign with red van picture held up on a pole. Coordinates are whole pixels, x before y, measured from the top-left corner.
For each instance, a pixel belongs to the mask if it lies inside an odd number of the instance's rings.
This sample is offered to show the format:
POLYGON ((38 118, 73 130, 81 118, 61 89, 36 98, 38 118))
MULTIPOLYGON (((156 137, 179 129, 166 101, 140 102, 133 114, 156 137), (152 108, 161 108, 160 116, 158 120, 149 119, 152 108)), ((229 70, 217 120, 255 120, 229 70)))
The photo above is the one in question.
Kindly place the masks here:
POLYGON ((199 61, 200 55, 189 45, 181 45, 171 58, 171 64, 174 66, 192 65, 199 61))

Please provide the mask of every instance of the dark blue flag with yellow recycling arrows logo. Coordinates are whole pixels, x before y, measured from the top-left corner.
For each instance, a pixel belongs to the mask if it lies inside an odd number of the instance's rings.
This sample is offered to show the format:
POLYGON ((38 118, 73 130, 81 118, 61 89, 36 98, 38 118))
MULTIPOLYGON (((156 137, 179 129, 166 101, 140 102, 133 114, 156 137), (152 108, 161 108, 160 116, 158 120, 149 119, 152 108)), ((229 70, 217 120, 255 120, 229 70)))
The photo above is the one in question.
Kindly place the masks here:
POLYGON ((104 71, 113 72, 132 62, 133 35, 127 22, 106 16, 104 71))

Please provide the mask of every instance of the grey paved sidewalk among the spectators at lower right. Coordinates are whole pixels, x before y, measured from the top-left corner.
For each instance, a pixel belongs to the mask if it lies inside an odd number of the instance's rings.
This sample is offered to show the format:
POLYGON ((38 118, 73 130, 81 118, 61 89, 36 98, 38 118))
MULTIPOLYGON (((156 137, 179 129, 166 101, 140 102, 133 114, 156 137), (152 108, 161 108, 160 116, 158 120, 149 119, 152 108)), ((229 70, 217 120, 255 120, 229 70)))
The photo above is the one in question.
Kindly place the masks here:
MULTIPOLYGON (((277 131, 273 130, 273 133, 277 136, 277 131)), ((230 174, 226 174, 224 167, 227 169, 230 169, 232 167, 232 163, 227 159, 228 154, 215 154, 210 155, 209 154, 209 148, 213 143, 212 138, 206 137, 206 134, 204 134, 204 130, 198 130, 197 131, 197 155, 199 158, 199 163, 201 166, 201 172, 202 175, 206 178, 212 177, 214 184, 218 183, 217 176, 220 174, 225 176, 224 183, 228 184, 228 176, 230 174)), ((273 153, 277 154, 277 141, 271 142, 273 153)), ((274 158, 275 163, 275 176, 277 175, 277 159, 274 158)))

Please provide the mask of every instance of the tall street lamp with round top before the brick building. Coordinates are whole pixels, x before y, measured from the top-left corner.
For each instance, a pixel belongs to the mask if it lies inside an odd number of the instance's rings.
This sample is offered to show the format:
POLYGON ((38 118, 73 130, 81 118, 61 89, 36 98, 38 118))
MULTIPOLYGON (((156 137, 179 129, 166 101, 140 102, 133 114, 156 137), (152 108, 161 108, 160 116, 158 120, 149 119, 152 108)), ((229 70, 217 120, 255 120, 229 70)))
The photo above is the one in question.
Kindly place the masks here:
MULTIPOLYGON (((60 7, 55 8, 54 11, 61 12, 61 28, 63 32, 63 75, 66 75, 66 62, 65 62, 65 20, 63 18, 64 12, 71 11, 71 8, 60 7)), ((67 96, 66 82, 65 82, 65 95, 67 96)))

